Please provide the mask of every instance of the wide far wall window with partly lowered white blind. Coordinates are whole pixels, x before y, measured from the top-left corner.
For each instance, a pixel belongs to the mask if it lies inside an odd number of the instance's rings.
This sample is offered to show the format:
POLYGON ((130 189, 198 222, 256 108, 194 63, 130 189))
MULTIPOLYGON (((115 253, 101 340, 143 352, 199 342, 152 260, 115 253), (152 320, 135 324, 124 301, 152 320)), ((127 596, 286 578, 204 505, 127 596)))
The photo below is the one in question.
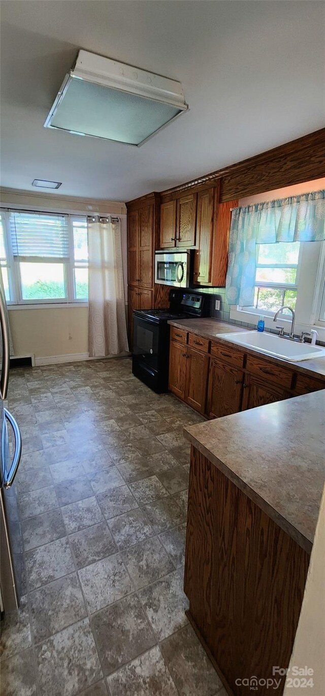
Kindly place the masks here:
POLYGON ((86 217, 1 212, 0 253, 8 303, 88 300, 86 217))

